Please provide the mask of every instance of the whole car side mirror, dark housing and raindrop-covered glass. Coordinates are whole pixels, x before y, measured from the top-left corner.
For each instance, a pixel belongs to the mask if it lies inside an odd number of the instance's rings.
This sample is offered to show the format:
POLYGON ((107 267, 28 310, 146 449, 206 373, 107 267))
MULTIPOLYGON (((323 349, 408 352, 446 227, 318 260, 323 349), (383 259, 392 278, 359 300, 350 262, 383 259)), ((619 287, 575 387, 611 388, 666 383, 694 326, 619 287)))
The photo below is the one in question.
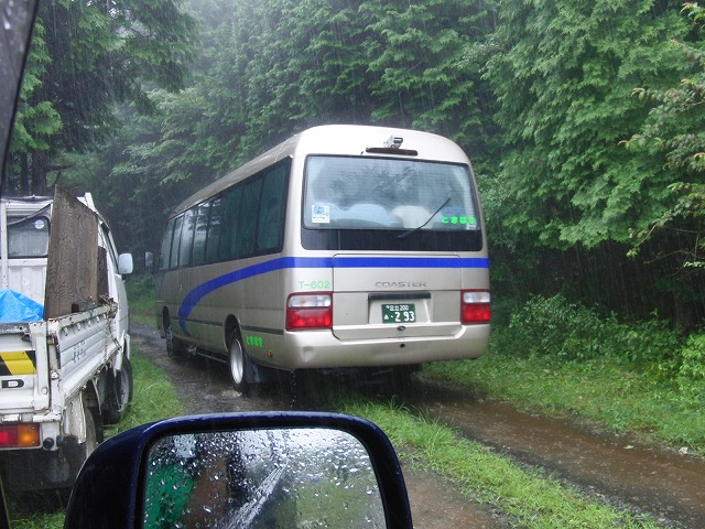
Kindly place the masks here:
POLYGON ((411 528, 384 433, 334 413, 209 414, 138 427, 82 468, 66 528, 411 528))

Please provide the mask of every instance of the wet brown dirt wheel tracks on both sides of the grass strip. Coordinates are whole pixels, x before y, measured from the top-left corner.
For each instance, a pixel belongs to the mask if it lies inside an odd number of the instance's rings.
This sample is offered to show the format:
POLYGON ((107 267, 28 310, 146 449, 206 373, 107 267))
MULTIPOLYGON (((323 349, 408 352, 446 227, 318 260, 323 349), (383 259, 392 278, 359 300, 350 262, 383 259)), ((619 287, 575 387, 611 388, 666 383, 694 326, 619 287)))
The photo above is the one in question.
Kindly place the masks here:
MULTIPOLYGON (((242 399, 230 389, 225 365, 169 358, 163 341, 145 326, 133 325, 132 337, 143 355, 170 374, 189 413, 316 408, 315 402, 292 401, 289 388, 267 398, 242 399)), ((402 398, 405 406, 457 428, 469 439, 543 467, 612 504, 649 512, 665 527, 705 527, 702 460, 596 434, 568 420, 520 413, 427 381, 416 380, 413 391, 402 398)), ((500 515, 459 496, 437 476, 411 468, 404 472, 416 527, 509 526, 500 515)))

